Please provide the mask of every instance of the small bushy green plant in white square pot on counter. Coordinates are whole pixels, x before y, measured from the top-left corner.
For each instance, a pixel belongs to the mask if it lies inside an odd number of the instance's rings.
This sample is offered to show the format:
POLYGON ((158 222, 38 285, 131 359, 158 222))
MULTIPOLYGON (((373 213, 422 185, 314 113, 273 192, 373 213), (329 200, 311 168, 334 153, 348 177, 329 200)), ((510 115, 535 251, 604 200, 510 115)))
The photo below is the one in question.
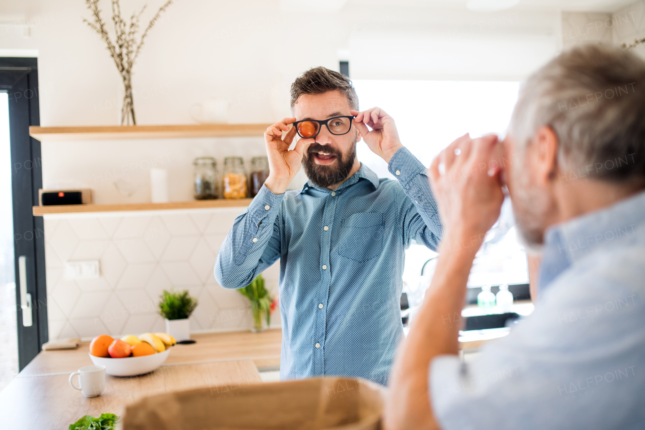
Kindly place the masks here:
POLYGON ((188 290, 167 291, 161 293, 159 315, 166 318, 166 333, 177 342, 190 340, 190 314, 197 307, 197 299, 191 297, 188 290))

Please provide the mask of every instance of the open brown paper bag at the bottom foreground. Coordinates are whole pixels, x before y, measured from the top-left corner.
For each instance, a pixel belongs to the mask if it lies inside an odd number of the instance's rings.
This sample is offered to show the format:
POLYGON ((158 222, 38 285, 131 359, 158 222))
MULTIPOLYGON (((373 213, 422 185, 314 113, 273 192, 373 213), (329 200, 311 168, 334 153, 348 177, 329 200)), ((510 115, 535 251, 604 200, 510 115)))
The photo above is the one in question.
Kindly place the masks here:
POLYGON ((383 393, 372 382, 339 377, 220 385, 130 404, 123 430, 377 430, 383 393))

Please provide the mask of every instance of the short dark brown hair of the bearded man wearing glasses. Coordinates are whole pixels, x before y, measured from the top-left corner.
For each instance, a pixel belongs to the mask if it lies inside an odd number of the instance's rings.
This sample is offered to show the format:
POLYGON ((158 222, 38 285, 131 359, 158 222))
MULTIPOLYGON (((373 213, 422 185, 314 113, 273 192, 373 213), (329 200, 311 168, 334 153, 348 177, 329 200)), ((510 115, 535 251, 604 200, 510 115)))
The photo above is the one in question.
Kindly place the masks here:
POLYGON ((347 76, 319 66, 313 67, 298 76, 291 85, 291 110, 303 94, 323 94, 328 91, 340 91, 347 97, 350 107, 359 110, 359 96, 347 76))

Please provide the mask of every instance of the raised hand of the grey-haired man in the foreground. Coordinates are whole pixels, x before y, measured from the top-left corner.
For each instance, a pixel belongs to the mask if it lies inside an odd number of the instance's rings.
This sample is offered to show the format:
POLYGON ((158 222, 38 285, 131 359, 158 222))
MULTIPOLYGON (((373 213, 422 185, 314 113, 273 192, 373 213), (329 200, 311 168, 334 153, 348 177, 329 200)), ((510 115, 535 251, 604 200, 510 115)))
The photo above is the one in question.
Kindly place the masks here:
POLYGON ((465 134, 444 149, 428 169, 448 240, 472 243, 477 237, 481 245, 484 234, 499 218, 504 194, 500 163, 495 158, 497 145, 497 136, 471 139, 465 134))

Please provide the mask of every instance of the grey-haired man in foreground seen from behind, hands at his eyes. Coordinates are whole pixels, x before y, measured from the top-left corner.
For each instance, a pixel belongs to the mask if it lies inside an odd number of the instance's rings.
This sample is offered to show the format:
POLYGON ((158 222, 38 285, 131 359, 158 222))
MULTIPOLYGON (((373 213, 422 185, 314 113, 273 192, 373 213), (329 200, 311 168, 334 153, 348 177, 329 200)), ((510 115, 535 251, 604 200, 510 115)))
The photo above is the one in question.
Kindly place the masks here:
POLYGON ((385 429, 645 427, 644 83, 634 54, 574 48, 528 79, 502 145, 464 137, 433 161, 444 238, 385 429), (464 362, 466 280, 504 184, 542 252, 539 294, 531 316, 464 362))

